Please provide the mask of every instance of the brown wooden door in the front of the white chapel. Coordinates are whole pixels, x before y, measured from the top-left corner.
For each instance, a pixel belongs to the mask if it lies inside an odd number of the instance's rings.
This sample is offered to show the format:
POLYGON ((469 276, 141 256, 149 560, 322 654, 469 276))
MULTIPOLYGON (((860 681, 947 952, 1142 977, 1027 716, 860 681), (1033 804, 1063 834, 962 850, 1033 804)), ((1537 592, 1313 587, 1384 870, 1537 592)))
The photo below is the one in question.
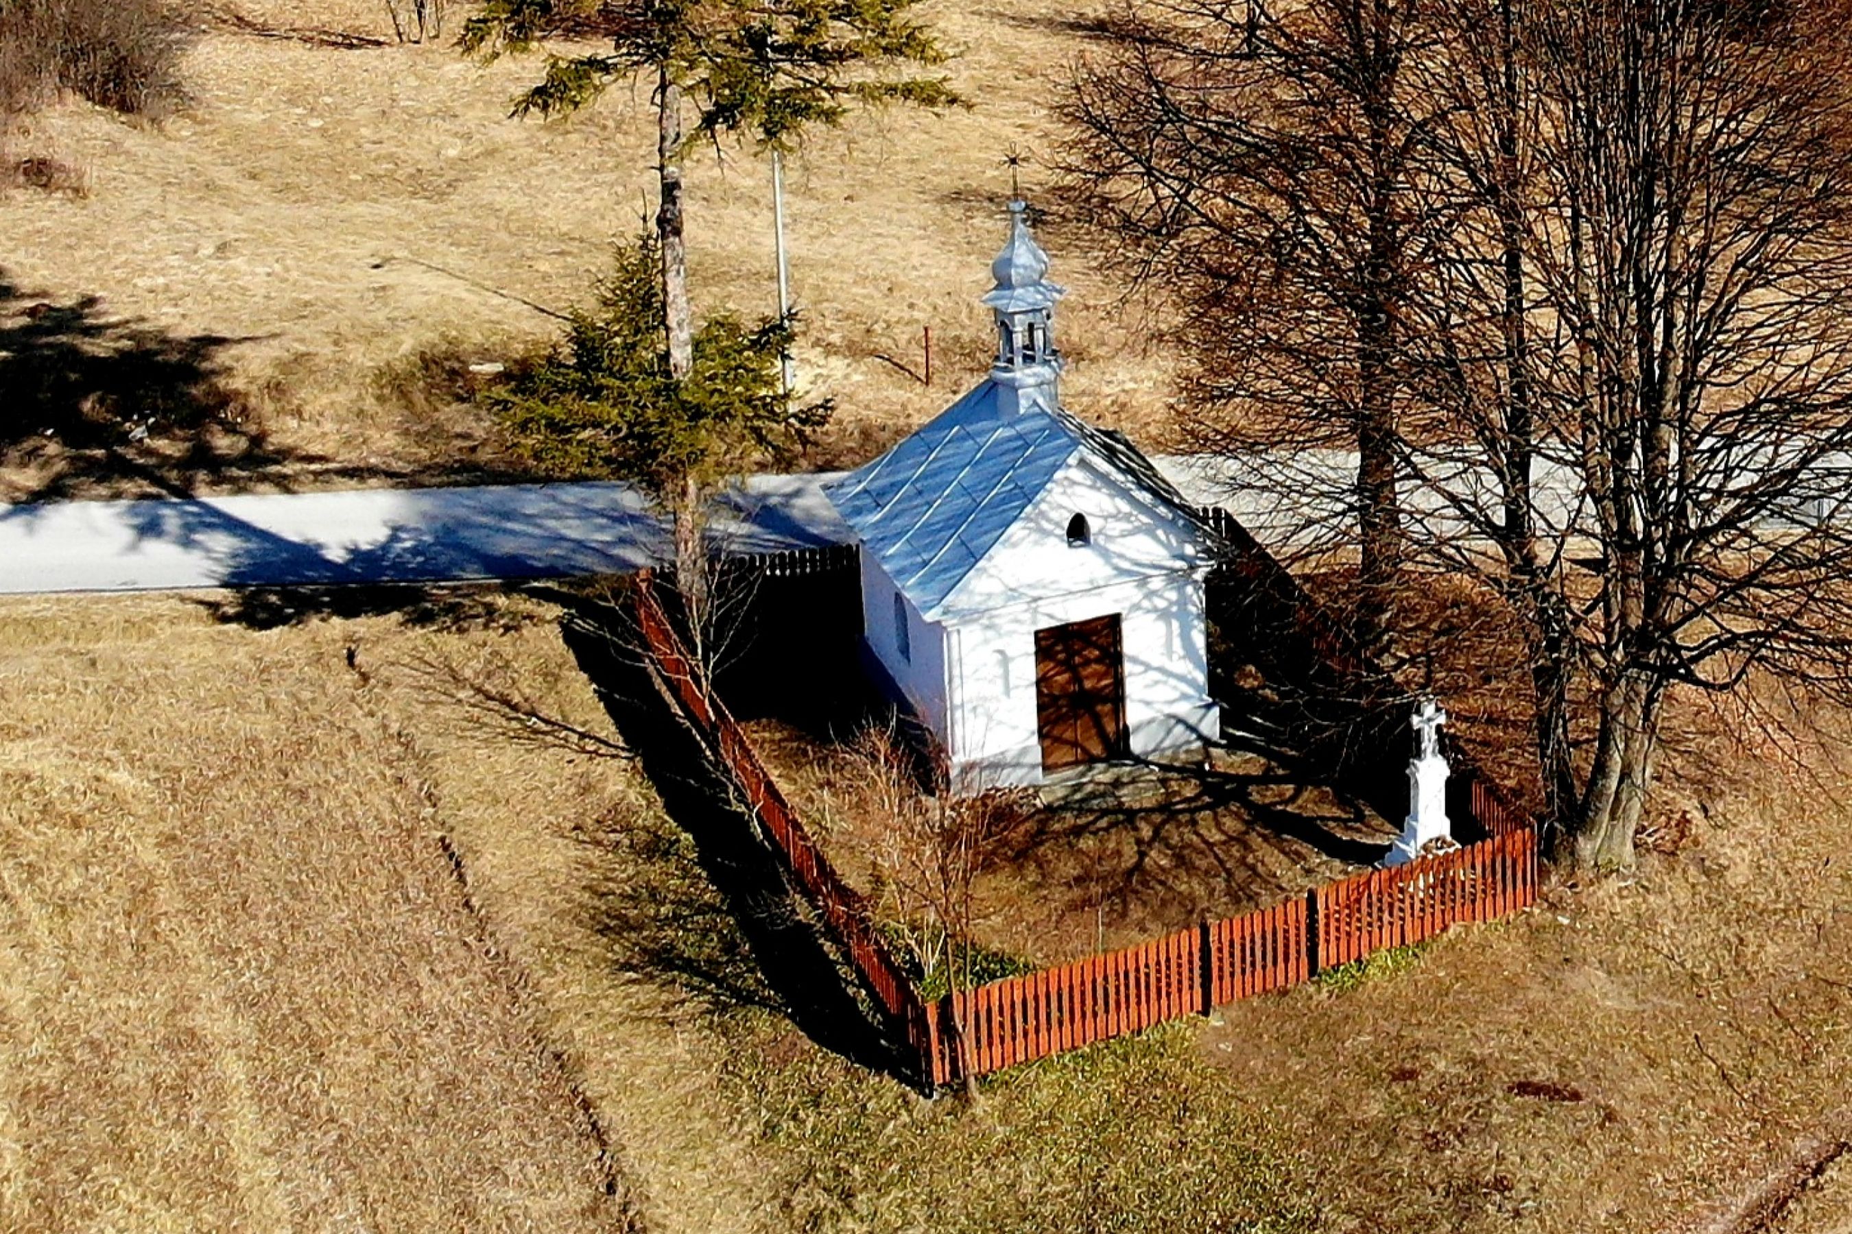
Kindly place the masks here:
POLYGON ((1043 770, 1126 757, 1126 657, 1119 614, 1035 631, 1043 770))

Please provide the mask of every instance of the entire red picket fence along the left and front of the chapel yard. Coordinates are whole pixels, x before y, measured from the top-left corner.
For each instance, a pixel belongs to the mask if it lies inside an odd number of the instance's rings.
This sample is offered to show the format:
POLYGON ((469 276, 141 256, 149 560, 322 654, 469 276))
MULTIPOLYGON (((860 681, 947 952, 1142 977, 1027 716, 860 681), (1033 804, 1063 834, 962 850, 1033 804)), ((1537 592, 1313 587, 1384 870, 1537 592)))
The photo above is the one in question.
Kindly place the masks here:
POLYGON ((863 984, 902 1029, 919 1060, 919 1077, 930 1086, 1285 990, 1320 968, 1420 942, 1456 921, 1489 921, 1537 897, 1535 831, 1491 781, 1470 771, 1470 808, 1489 840, 1330 882, 1241 918, 957 990, 928 1005, 874 929, 869 903, 835 873, 745 731, 702 688, 648 570, 637 575, 635 609, 663 677, 713 742, 863 984))

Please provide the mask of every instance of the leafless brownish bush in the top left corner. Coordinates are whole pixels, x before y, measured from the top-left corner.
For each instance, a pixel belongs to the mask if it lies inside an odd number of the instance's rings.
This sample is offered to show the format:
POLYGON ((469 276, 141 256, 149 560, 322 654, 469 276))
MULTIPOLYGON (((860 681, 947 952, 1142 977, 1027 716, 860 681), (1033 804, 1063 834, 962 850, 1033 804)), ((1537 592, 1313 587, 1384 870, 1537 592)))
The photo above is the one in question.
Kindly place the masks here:
POLYGON ((180 98, 181 13, 163 0, 11 0, 0 6, 0 107, 54 91, 159 117, 180 98))

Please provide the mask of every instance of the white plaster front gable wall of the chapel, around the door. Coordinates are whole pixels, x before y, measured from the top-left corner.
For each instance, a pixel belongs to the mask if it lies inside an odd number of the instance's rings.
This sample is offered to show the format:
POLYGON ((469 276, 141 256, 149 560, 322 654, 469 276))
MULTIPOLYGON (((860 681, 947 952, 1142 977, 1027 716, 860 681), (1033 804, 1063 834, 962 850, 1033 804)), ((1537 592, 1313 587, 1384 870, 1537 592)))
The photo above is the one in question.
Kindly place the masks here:
POLYGON ((948 599, 954 771, 965 788, 1037 784, 1035 631, 1119 614, 1135 757, 1220 734, 1208 696, 1208 629, 1195 531, 1072 464, 948 599), (1074 512, 1093 540, 1067 544, 1074 512))

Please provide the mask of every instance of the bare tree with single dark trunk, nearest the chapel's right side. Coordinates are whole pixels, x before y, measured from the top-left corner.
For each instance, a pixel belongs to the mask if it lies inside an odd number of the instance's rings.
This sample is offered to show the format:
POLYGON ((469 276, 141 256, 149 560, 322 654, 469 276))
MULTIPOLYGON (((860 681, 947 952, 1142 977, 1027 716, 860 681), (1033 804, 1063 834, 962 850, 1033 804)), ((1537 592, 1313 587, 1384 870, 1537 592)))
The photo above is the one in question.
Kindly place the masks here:
MULTIPOLYGON (((1435 241, 1415 183, 1428 102, 1413 0, 1156 0, 1083 61, 1067 172, 1141 281, 1185 305, 1196 444, 1315 488, 1358 546, 1376 638, 1402 561, 1396 420, 1408 298, 1435 241), (1282 451, 1354 451, 1333 477, 1282 451), (1354 527, 1354 540, 1352 529, 1354 527)), ((1330 540, 1319 540, 1328 548, 1330 540)))

